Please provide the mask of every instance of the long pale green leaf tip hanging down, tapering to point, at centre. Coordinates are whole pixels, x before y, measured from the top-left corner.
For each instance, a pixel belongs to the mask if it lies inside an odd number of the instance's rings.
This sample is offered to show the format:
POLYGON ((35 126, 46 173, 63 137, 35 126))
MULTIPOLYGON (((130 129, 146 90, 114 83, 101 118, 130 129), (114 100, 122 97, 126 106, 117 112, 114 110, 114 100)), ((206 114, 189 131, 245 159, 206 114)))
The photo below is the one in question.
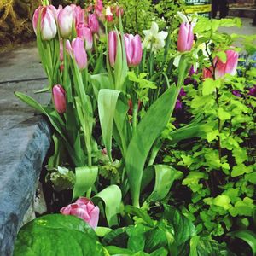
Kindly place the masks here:
POLYGON ((119 90, 102 89, 99 91, 98 95, 98 109, 102 128, 102 137, 110 159, 112 159, 113 118, 119 94, 119 90))

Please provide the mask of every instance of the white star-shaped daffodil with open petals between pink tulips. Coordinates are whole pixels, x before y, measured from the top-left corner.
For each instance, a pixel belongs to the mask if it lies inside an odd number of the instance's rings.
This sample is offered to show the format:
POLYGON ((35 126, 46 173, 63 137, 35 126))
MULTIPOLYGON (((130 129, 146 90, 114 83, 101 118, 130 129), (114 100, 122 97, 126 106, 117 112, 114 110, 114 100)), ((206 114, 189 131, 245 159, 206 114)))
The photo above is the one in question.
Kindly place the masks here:
POLYGON ((151 49, 154 53, 157 52, 158 49, 165 47, 165 39, 168 36, 168 32, 159 31, 159 27, 156 22, 152 22, 151 28, 149 30, 143 30, 143 34, 145 35, 145 39, 143 41, 143 49, 151 49))

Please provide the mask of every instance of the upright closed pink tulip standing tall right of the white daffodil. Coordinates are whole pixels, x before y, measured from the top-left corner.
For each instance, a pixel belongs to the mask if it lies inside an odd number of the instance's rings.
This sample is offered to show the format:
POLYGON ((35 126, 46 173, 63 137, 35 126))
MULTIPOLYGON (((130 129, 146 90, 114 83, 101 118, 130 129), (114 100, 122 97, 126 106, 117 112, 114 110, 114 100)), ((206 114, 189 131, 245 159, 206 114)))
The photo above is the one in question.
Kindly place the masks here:
POLYGON ((180 52, 191 50, 193 46, 193 41, 193 25, 183 22, 178 32, 177 50, 180 52))

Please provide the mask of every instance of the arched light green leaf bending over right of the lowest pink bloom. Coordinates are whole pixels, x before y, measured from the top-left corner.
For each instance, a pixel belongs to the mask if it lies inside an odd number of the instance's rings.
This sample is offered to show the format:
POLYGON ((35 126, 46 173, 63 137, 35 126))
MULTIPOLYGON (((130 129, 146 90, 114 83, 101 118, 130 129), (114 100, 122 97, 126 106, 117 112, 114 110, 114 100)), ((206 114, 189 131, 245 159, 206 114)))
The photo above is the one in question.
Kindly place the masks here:
POLYGON ((120 212, 120 203, 122 200, 121 189, 117 185, 108 186, 92 198, 92 201, 98 200, 102 200, 105 204, 108 225, 111 227, 118 224, 117 214, 120 212))

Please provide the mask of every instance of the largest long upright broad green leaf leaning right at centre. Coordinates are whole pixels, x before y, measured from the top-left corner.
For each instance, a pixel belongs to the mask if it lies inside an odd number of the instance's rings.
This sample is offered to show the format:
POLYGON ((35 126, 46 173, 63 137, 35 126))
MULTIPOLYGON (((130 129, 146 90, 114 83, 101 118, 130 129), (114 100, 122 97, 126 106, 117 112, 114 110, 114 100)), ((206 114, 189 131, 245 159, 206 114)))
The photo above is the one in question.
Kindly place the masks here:
POLYGON ((139 207, 143 169, 149 150, 160 133, 166 128, 175 101, 176 88, 172 86, 148 108, 148 112, 137 125, 137 131, 128 146, 125 169, 130 183, 133 205, 136 207, 139 207))

